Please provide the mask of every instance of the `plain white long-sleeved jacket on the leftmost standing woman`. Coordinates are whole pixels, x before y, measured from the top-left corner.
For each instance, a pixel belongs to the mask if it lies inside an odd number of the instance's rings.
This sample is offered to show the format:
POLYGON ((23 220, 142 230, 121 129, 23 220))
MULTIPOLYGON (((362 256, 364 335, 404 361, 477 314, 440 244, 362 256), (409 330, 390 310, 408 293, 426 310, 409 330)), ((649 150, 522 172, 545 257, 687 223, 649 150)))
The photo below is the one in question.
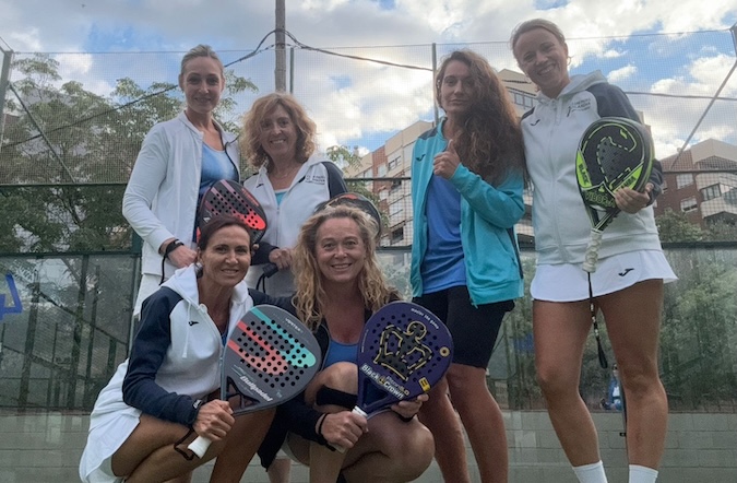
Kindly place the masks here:
MULTIPOLYGON (((236 137, 218 129, 225 152, 239 173, 236 137)), ((158 247, 167 239, 192 243, 203 142, 204 134, 185 113, 155 125, 143 140, 122 201, 123 216, 144 241, 142 273, 162 274, 158 247)), ((167 261, 165 271, 168 279, 175 267, 167 261)))

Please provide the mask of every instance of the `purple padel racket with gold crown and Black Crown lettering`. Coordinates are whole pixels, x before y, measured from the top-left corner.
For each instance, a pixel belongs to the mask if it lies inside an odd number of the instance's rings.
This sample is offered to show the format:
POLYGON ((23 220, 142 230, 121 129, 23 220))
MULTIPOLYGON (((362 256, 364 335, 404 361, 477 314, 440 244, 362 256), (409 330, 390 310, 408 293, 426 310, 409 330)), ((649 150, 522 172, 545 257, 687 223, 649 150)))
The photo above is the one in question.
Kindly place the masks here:
POLYGON ((428 392, 445 375, 452 356, 453 339, 435 314, 409 302, 387 304, 361 333, 353 412, 371 417, 428 392))

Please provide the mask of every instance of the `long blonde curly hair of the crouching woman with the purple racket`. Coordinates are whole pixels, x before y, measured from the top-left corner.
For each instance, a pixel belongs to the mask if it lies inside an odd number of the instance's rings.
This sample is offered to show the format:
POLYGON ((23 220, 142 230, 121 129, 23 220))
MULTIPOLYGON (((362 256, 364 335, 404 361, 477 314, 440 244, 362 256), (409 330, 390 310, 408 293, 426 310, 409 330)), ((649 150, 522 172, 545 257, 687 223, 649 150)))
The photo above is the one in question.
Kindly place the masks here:
POLYGON ((297 288, 293 302, 297 308, 297 316, 311 330, 314 330, 322 321, 323 309, 330 296, 324 291, 322 273, 318 268, 318 231, 323 223, 333 219, 352 219, 358 225, 361 241, 366 247, 364 270, 358 279, 358 290, 364 297, 364 306, 371 311, 377 311, 392 299, 399 298, 396 290, 389 286, 379 268, 375 238, 378 229, 376 221, 357 208, 348 205, 326 208, 305 222, 293 256, 292 270, 297 288))

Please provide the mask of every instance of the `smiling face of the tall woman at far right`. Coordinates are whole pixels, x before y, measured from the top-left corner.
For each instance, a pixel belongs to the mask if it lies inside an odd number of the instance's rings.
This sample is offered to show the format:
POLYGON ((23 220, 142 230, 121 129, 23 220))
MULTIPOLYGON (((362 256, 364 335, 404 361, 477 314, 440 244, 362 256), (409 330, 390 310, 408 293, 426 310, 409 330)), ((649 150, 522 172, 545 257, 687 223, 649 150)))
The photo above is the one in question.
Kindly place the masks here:
POLYGON ((520 69, 550 98, 568 85, 568 45, 550 31, 533 28, 514 43, 514 57, 520 69))

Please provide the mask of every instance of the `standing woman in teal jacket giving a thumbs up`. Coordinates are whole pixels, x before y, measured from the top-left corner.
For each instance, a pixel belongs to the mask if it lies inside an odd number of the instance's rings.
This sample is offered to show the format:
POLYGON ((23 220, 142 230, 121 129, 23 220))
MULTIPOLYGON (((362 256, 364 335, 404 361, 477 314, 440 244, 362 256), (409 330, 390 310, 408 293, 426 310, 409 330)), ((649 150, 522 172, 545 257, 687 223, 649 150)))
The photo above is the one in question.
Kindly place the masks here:
POLYGON ((514 224, 524 214, 522 134, 507 92, 483 57, 452 52, 436 76, 445 111, 415 143, 414 301, 453 335, 453 364, 420 410, 445 481, 469 481, 461 415, 483 482, 507 481, 507 437, 486 367, 501 321, 523 294, 514 224), (447 397, 450 393, 450 399, 447 397))

